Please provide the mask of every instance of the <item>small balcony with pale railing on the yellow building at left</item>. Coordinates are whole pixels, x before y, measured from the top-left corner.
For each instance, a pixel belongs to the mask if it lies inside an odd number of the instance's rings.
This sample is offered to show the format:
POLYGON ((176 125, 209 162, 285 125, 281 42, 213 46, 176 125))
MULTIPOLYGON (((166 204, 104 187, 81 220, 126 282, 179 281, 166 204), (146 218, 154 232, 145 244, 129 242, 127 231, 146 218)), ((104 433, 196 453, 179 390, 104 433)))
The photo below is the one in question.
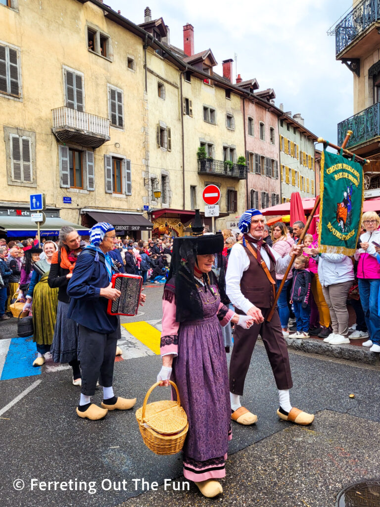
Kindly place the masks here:
POLYGON ((98 148, 109 141, 109 119, 71 107, 52 110, 53 133, 61 142, 75 142, 88 148, 98 148))

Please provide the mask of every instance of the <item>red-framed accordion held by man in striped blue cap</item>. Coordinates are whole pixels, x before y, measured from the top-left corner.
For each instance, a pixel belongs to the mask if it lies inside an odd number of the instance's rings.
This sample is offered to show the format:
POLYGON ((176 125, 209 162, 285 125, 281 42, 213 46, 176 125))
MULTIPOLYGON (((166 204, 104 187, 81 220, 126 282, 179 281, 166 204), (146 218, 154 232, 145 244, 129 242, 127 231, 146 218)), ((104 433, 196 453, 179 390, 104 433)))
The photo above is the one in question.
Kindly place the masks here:
POLYGON ((117 273, 111 278, 112 288, 121 292, 116 301, 109 300, 108 315, 136 315, 140 301, 142 277, 117 273))

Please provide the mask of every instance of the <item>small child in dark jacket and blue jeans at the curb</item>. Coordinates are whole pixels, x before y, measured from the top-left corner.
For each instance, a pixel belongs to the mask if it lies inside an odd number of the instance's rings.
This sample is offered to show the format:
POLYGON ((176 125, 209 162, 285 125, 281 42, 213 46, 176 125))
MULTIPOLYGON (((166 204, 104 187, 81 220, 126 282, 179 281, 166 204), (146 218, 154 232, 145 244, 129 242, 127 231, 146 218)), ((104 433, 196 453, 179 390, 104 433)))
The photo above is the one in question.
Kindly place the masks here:
MULTIPOLYGON (((312 238, 313 239, 313 238, 312 238)), ((305 256, 297 257, 293 269, 293 285, 290 293, 290 303, 293 303, 297 331, 289 338, 310 338, 310 293, 312 278, 306 269, 308 259, 305 256)))

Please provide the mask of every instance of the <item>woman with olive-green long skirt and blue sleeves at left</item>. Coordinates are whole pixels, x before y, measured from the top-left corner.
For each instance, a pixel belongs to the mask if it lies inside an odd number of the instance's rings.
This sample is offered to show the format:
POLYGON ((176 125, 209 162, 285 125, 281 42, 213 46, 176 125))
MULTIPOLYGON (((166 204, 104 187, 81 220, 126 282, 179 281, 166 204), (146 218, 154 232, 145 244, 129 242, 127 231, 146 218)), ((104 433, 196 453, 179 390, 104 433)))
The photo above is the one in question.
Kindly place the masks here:
MULTIPOLYGON (((53 342, 55 321, 57 319, 58 288, 50 288, 48 276, 53 253, 57 245, 53 241, 44 243, 46 258, 33 262, 33 274, 26 294, 24 310, 31 310, 33 315, 33 342, 37 347, 37 357, 33 366, 42 366, 46 359, 44 354, 50 351, 53 342)), ((39 248, 41 252, 41 248, 39 248)))

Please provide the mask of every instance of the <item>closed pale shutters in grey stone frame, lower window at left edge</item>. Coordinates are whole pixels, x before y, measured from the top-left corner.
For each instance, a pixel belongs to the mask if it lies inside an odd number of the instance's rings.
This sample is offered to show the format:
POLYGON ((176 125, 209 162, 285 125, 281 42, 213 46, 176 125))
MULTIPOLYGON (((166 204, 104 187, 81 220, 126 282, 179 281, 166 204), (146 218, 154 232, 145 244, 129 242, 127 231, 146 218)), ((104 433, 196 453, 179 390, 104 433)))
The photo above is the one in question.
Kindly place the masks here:
POLYGON ((12 181, 31 183, 33 181, 31 139, 11 134, 12 181))

